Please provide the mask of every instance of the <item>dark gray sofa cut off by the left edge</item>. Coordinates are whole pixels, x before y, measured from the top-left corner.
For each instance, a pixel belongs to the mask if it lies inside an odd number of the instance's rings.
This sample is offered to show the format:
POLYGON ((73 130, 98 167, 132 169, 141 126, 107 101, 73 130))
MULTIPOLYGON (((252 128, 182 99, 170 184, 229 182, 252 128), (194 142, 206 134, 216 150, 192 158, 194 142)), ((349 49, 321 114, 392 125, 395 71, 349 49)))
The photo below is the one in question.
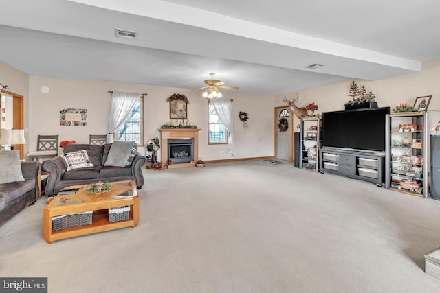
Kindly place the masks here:
POLYGON ((21 162, 24 181, 0 184, 0 226, 40 196, 39 162, 21 162))

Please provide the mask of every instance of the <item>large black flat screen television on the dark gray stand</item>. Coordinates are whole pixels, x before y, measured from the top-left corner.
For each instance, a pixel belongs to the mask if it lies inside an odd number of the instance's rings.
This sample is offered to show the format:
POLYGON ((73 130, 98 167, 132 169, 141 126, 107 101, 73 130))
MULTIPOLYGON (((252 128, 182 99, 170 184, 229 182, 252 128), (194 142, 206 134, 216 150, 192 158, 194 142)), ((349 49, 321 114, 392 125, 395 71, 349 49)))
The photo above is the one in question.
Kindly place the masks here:
POLYGON ((385 151, 390 107, 322 113, 322 146, 385 151))

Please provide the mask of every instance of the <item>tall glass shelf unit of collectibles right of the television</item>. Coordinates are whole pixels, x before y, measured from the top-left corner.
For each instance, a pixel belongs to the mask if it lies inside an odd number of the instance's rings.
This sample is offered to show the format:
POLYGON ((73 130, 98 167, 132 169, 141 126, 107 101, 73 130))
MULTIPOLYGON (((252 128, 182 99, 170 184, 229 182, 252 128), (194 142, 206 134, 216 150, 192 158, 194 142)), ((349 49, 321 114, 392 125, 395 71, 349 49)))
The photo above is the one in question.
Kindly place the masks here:
POLYGON ((386 186, 391 190, 428 198, 428 112, 387 116, 386 186))

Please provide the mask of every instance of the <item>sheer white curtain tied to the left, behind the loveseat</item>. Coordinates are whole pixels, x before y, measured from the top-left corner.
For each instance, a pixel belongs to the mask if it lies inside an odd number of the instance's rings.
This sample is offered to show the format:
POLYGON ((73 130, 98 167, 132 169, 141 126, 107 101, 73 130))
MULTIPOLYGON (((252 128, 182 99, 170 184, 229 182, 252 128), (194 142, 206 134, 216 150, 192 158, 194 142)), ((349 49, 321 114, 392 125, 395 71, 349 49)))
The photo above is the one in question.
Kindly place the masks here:
POLYGON ((141 95, 139 93, 118 93, 111 94, 109 131, 107 132, 107 143, 113 142, 113 132, 115 132, 126 117, 129 116, 133 108, 139 102, 141 95))

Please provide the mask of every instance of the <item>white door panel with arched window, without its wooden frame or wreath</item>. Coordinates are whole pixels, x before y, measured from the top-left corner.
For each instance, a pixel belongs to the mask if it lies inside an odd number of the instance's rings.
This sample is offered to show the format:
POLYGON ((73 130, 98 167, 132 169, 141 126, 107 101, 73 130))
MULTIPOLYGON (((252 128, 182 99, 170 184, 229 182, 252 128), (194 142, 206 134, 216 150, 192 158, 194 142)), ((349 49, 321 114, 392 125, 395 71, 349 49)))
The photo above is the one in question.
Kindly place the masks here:
POLYGON ((292 112, 289 107, 276 108, 276 159, 292 161, 292 112), (280 119, 287 119, 287 130, 278 128, 280 119))

